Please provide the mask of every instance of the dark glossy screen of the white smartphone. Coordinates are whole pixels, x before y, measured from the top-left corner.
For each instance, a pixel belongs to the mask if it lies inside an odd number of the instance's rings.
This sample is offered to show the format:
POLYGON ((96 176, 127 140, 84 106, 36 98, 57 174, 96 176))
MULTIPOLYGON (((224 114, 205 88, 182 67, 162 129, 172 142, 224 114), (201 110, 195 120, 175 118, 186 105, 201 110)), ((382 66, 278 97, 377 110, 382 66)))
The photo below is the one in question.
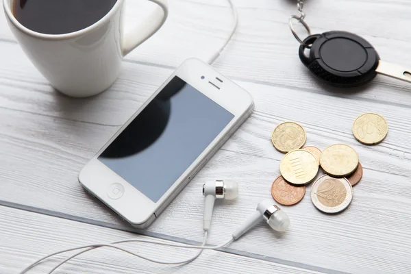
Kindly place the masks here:
POLYGON ((175 76, 99 160, 157 202, 233 118, 175 76))

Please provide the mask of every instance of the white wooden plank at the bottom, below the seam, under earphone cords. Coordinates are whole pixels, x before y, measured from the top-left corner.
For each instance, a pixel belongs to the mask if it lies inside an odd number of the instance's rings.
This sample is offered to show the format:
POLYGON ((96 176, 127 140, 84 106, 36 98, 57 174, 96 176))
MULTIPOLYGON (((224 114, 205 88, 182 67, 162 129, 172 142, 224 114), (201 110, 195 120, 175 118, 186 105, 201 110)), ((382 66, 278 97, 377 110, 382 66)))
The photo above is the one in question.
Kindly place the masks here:
MULTIPOLYGON (((32 262, 55 251, 99 242, 113 242, 124 238, 158 240, 136 236, 115 229, 86 225, 65 219, 45 216, 0 206, 0 273, 18 273, 32 262)), ((201 240, 201 239, 198 239, 201 240)), ((162 240, 162 242, 169 242, 162 240)), ((195 251, 186 249, 123 244, 122 247, 140 255, 163 261, 190 258, 195 251), (161 251, 160 251, 161 250, 161 251), (159 252, 160 251, 160 252, 159 252)), ((71 253, 73 254, 73 253, 71 253)), ((64 256, 40 264, 29 273, 47 273, 64 256)), ((309 267, 309 266, 308 266, 309 267)), ((164 266, 134 258, 121 251, 97 249, 61 267, 56 273, 274 273, 320 274, 275 262, 265 262, 221 251, 204 251, 201 257, 184 266, 164 266), (212 262, 212 263, 210 263, 212 262)))

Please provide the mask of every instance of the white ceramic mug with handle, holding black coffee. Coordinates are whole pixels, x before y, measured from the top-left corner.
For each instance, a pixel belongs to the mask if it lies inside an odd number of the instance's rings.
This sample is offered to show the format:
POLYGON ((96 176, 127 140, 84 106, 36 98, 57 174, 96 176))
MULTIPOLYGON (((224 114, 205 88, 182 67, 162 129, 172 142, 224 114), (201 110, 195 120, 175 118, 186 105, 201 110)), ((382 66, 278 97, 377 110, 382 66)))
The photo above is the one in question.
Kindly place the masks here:
POLYGON ((108 14, 85 29, 41 34, 16 20, 12 1, 3 0, 3 8, 18 43, 51 85, 72 97, 97 95, 110 87, 119 75, 123 57, 155 34, 168 14, 166 0, 149 0, 158 5, 154 12, 142 26, 125 34, 125 0, 117 0, 108 14))

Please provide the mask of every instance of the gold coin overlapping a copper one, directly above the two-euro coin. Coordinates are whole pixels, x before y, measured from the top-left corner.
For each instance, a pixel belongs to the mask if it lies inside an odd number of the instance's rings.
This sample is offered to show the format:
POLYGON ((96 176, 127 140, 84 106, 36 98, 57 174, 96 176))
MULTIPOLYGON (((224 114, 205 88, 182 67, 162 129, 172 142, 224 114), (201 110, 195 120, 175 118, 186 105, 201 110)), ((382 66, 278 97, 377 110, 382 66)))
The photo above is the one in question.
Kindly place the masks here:
POLYGON ((348 145, 331 145, 321 153, 320 164, 325 173, 333 177, 346 177, 356 171, 358 154, 348 145))

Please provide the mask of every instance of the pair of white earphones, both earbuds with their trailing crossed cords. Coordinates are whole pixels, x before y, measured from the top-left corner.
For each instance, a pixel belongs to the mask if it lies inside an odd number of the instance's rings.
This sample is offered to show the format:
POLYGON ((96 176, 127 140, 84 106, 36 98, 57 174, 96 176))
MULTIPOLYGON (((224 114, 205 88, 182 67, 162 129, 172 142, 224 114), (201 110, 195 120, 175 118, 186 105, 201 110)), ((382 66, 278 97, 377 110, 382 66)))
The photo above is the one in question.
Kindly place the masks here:
POLYGON ((117 242, 111 242, 109 244, 97 244, 97 245, 86 245, 83 247, 75 247, 72 249, 66 249, 63 251, 58 251, 55 253, 52 253, 48 256, 45 256, 41 258, 40 260, 37 260, 33 264, 29 265, 26 269, 21 271, 20 274, 27 273, 29 269, 32 269, 34 266, 42 262, 43 260, 46 260, 47 258, 50 258, 52 256, 55 256, 60 253, 65 253, 69 251, 74 251, 74 250, 79 250, 79 249, 84 249, 82 251, 79 251, 78 253, 75 253, 73 256, 67 258, 66 260, 60 262, 57 266, 55 266, 53 269, 48 274, 53 273, 58 267, 62 266, 62 264, 65 264, 66 262, 69 262, 69 260, 81 255, 82 253, 85 253, 87 251, 90 251, 92 249, 100 248, 100 247, 111 247, 114 249, 118 249, 121 251, 124 251, 126 253, 129 253, 133 256, 136 256, 138 258, 142 258, 144 260, 148 260, 150 262, 155 262, 158 264, 186 264, 188 262, 192 262, 196 258, 198 258, 201 255, 201 252, 204 249, 219 249, 221 247, 225 247, 234 240, 237 240, 240 238, 243 234, 245 234, 249 229, 252 227, 256 226, 262 219, 266 221, 270 225, 272 229, 274 229, 277 232, 284 232, 287 228, 288 225, 290 225, 290 219, 288 219, 288 216, 285 212, 283 212, 281 209, 279 209, 277 206, 273 205, 273 202, 270 200, 264 200, 260 202, 257 206, 257 210, 251 214, 242 225, 240 225, 236 231, 232 234, 232 238, 229 239, 227 242, 224 242, 221 245, 216 245, 212 247, 206 247, 206 242, 207 242, 207 237, 208 237, 208 231, 211 227, 211 219, 212 219, 212 211, 214 208, 214 201, 216 199, 236 199, 238 197, 238 184, 236 182, 232 181, 223 181, 223 180, 217 180, 215 182, 208 182, 203 185, 203 195, 206 197, 205 202, 204 202, 204 215, 203 215, 203 230, 204 230, 204 240, 202 245, 185 245, 185 244, 169 244, 166 242, 157 242, 153 240, 137 240, 137 239, 127 239, 127 240, 119 240, 117 242), (183 248, 189 248, 189 249, 200 249, 200 251, 195 254, 195 256, 192 256, 191 258, 188 258, 186 260, 178 261, 178 262, 164 262, 164 261, 159 261, 151 258, 147 258, 145 256, 142 256, 138 253, 133 253, 132 251, 129 251, 127 249, 118 247, 116 245, 121 244, 123 242, 145 242, 147 244, 154 244, 154 245, 165 245, 169 247, 183 247, 183 248))

